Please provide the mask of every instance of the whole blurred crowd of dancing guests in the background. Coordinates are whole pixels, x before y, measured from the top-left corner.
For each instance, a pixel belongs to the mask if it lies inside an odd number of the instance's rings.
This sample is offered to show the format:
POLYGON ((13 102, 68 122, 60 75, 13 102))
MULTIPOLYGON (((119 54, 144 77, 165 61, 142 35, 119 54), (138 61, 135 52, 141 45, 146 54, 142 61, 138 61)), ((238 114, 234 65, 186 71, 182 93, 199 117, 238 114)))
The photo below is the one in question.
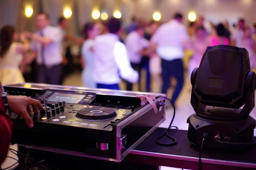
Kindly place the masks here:
MULTIPOLYGON (((199 67, 208 46, 234 45, 249 52, 251 70, 256 69, 256 23, 247 26, 226 21, 214 25, 200 16, 188 26, 183 15, 176 13, 166 23, 146 22, 133 17, 127 28, 122 21, 89 22, 81 37, 66 34, 69 25, 64 17, 58 26, 50 26, 45 13, 36 17, 38 31, 17 34, 14 26, 0 29, 0 81, 3 85, 37 82, 61 85, 65 76, 81 67, 85 87, 133 90, 138 82, 142 91, 141 72, 146 72, 145 91, 152 91, 154 80, 167 93, 171 80, 176 79, 172 102, 175 103, 184 84, 184 57, 189 61, 188 75, 199 67), (74 65, 71 48, 66 42, 80 46, 79 65, 74 65), (29 76, 28 76, 29 75, 29 76), (25 76, 25 79, 24 79, 25 76)), ((143 88, 144 89, 144 88, 143 88)))

